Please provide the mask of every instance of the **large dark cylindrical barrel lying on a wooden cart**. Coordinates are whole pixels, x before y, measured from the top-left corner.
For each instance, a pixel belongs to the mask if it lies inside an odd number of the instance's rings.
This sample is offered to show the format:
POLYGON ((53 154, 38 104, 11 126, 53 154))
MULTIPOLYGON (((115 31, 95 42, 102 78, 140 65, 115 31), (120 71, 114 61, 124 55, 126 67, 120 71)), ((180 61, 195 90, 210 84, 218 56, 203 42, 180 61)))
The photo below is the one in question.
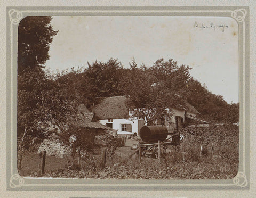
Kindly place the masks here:
POLYGON ((143 142, 165 141, 168 136, 168 130, 163 125, 143 126, 140 129, 139 135, 143 142))

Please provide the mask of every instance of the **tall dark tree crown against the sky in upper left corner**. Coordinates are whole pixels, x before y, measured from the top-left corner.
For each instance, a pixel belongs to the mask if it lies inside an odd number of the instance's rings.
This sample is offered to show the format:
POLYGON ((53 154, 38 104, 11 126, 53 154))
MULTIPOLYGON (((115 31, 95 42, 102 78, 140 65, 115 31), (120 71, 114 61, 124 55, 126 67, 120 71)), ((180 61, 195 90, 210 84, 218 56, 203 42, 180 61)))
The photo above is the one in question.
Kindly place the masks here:
POLYGON ((18 28, 18 74, 25 70, 44 68, 49 60, 49 47, 54 35, 50 16, 28 16, 18 28))

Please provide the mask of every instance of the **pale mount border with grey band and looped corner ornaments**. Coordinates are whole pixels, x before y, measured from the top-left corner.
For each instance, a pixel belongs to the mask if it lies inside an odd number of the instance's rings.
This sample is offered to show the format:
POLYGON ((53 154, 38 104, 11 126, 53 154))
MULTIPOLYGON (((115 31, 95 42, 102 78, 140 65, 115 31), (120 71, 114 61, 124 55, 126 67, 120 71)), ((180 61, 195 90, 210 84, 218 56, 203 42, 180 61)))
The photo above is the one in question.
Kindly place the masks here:
POLYGON ((8 190, 250 189, 249 7, 6 7, 6 182, 8 190), (239 169, 233 179, 69 179, 21 177, 17 170, 18 24, 26 16, 213 16, 239 27, 239 169))

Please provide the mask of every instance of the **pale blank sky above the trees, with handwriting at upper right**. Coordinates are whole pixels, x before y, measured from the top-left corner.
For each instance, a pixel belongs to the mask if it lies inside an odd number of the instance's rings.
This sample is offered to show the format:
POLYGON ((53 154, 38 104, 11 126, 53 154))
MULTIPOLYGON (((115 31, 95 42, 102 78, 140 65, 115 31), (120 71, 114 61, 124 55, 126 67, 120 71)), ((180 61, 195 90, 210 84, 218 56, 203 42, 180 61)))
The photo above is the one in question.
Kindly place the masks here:
POLYGON ((232 18, 54 16, 51 23, 59 32, 45 63, 50 70, 87 67, 87 61, 111 57, 124 67, 132 57, 151 66, 163 57, 188 65, 192 77, 228 103, 239 102, 238 24, 232 18))

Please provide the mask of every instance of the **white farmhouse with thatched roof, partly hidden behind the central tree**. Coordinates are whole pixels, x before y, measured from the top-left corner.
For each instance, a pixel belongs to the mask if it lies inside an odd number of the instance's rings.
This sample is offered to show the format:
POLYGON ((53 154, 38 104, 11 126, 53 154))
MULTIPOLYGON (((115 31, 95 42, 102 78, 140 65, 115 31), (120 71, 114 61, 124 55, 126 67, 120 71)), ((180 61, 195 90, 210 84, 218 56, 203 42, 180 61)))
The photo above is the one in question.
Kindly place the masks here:
MULTIPOLYGON (((117 130, 117 134, 139 134, 140 128, 144 126, 143 119, 130 119, 129 109, 125 105, 127 98, 125 96, 114 96, 104 98, 95 105, 94 116, 99 123, 117 130)), ((196 119, 199 112, 184 101, 183 105, 172 108, 174 112, 170 120, 165 120, 165 126, 169 131, 179 129, 185 121, 196 119)), ((156 120, 156 125, 160 125, 161 120, 156 120)))

